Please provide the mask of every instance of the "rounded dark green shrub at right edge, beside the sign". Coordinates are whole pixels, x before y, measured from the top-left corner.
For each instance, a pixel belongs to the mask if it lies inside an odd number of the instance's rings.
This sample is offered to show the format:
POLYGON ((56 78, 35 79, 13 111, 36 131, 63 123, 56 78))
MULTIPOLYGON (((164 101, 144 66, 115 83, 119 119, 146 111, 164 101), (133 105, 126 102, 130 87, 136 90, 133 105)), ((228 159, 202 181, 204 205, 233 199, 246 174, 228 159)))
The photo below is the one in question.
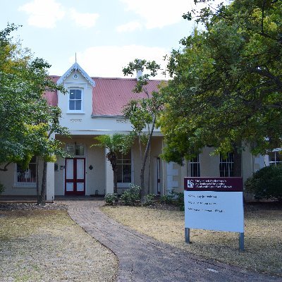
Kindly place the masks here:
POLYGON ((245 182, 245 190, 256 199, 282 200, 282 166, 265 166, 245 182))

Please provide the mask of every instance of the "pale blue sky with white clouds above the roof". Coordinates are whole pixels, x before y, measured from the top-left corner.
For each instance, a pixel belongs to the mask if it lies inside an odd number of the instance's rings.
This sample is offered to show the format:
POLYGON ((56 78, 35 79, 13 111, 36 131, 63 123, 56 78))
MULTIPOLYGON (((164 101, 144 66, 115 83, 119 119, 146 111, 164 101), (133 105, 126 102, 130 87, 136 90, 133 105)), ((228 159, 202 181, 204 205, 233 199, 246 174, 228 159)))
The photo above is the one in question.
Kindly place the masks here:
POLYGON ((63 75, 76 53, 88 75, 123 78, 134 59, 165 67, 195 26, 182 18, 192 8, 194 0, 1 0, 0 29, 22 25, 14 39, 51 64, 49 75, 63 75))

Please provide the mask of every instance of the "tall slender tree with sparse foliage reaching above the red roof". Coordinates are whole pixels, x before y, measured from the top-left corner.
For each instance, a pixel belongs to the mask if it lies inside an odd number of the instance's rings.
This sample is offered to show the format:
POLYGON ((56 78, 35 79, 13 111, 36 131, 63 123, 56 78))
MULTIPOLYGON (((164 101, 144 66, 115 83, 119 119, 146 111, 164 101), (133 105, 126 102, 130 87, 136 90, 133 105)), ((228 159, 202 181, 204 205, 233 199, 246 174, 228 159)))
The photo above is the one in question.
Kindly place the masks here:
MULTIPOLYGON (((133 125, 133 131, 138 135, 139 148, 140 148, 140 187, 141 199, 144 199, 147 192, 145 190, 145 166, 147 157, 150 158, 150 148, 152 142, 152 135, 156 125, 157 117, 163 105, 161 95, 159 92, 153 91, 149 93, 146 85, 149 83, 149 77, 155 77, 160 66, 155 61, 138 60, 128 63, 126 68, 123 68, 124 75, 133 75, 138 71, 149 71, 149 74, 140 75, 137 78, 137 83, 133 89, 134 93, 144 92, 146 98, 133 99, 123 109, 125 118, 128 118, 133 125), (145 143, 145 152, 142 152, 142 143, 145 143)), ((150 163, 150 160, 149 160, 150 163)), ((150 169, 149 169, 150 171, 150 169)))

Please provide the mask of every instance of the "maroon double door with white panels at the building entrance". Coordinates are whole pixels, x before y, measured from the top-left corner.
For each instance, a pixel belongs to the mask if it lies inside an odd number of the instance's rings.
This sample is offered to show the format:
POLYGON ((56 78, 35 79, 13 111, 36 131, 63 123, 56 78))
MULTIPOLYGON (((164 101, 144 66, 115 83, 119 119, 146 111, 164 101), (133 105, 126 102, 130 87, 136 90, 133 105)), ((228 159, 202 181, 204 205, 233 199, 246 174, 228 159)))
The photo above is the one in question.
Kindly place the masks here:
POLYGON ((85 195, 85 158, 67 158, 65 195, 85 195))

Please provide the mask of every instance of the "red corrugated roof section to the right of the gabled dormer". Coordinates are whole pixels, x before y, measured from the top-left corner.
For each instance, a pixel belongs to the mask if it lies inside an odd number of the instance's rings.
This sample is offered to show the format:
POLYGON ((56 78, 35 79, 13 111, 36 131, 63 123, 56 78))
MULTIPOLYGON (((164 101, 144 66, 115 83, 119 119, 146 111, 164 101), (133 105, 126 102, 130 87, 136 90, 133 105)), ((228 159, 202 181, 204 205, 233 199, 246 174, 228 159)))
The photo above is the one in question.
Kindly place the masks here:
MULTIPOLYGON (((96 82, 93 87, 92 114, 94 116, 122 116, 123 106, 131 99, 147 97, 143 92, 132 92, 136 79, 126 78, 92 78, 96 82)), ((147 91, 157 91, 160 80, 150 80, 146 85, 147 91)))

